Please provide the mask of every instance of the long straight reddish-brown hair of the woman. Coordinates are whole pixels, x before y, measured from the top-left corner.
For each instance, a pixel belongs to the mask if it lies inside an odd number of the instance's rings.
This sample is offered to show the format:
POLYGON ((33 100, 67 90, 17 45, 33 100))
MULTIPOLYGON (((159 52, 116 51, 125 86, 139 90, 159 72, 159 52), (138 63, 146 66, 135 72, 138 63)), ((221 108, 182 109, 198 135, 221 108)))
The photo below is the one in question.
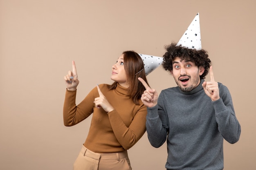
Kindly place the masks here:
MULTIPOLYGON (((129 84, 128 93, 132 98, 135 104, 139 104, 139 100, 141 95, 146 90, 141 82, 139 82, 138 78, 147 82, 144 63, 139 54, 134 51, 124 51, 124 70, 126 72, 127 83, 129 84)), ((114 82, 109 86, 110 90, 113 90, 117 87, 117 82, 114 82)))

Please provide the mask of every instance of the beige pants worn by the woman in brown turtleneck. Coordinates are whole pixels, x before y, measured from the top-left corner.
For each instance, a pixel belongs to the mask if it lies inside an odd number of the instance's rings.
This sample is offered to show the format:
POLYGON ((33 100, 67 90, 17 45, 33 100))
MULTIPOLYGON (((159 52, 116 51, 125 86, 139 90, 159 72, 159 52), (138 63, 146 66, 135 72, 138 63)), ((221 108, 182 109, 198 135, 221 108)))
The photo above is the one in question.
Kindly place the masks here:
POLYGON ((95 153, 82 146, 73 170, 132 170, 127 151, 95 153))

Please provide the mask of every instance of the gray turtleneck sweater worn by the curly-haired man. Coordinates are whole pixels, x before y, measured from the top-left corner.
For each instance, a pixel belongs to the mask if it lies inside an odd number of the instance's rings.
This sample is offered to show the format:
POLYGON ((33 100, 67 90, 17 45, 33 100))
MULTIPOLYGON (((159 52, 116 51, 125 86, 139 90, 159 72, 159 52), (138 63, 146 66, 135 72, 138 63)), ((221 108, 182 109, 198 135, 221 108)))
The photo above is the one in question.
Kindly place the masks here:
POLYGON ((167 138, 168 170, 222 170, 223 138, 234 144, 240 137, 228 88, 218 83, 220 99, 212 102, 203 82, 189 92, 167 88, 157 105, 148 108, 148 139, 158 148, 167 138))

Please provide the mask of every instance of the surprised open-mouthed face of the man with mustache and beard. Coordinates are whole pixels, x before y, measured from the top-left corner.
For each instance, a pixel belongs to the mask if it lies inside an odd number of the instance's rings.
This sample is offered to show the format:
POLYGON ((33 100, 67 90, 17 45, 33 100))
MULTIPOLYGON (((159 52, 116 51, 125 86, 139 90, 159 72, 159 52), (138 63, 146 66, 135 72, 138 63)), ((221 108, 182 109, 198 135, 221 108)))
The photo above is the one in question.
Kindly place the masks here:
POLYGON ((173 75, 176 84, 182 91, 191 91, 200 84, 200 75, 204 73, 204 68, 195 65, 194 62, 181 60, 176 57, 173 61, 173 75))

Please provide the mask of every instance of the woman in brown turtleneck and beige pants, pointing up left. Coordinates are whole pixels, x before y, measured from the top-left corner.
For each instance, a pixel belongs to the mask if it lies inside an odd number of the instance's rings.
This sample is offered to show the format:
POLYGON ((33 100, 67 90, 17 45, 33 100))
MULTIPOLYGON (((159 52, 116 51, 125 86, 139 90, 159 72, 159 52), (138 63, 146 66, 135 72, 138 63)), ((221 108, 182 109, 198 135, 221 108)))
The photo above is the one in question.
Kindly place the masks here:
POLYGON ((127 150, 146 131, 147 108, 140 98, 145 91, 138 77, 146 82, 144 63, 134 51, 124 51, 112 66, 113 84, 99 84, 76 105, 79 80, 73 71, 64 77, 67 90, 63 107, 65 126, 73 126, 89 117, 88 136, 74 162, 74 170, 131 170, 127 150))

